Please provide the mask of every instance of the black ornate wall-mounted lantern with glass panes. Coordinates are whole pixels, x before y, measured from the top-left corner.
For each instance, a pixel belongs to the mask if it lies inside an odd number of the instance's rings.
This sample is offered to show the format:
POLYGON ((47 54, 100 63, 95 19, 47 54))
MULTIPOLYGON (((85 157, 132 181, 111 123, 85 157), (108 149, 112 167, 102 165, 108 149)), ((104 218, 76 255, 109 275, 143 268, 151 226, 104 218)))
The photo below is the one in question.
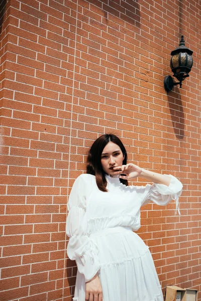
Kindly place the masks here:
POLYGON ((171 91, 173 86, 178 85, 181 88, 182 81, 188 77, 188 73, 192 68, 192 53, 193 51, 185 47, 185 41, 183 36, 181 36, 181 41, 179 47, 171 52, 170 68, 174 73, 173 76, 178 79, 179 82, 173 82, 170 75, 165 76, 164 87, 165 90, 171 91))

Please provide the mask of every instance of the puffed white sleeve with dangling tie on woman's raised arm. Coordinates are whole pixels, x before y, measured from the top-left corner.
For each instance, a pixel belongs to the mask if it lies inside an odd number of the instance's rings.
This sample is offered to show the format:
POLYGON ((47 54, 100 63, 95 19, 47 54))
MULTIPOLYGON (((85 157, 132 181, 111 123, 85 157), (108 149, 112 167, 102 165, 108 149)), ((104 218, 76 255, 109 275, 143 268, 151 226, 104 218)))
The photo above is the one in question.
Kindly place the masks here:
POLYGON ((172 200, 176 201, 176 211, 180 215, 179 211, 179 196, 182 193, 183 185, 175 177, 168 175, 171 178, 169 186, 163 184, 156 184, 148 186, 145 191, 142 205, 148 204, 150 201, 157 205, 165 206, 172 200))

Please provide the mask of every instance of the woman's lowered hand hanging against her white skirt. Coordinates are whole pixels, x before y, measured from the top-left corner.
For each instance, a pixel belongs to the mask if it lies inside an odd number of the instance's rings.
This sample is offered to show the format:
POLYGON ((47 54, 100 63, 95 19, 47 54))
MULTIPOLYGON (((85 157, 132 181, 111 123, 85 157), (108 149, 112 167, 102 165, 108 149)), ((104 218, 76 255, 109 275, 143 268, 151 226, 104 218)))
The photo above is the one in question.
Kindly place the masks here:
POLYGON ((85 283, 85 300, 103 301, 102 285, 97 274, 85 283))

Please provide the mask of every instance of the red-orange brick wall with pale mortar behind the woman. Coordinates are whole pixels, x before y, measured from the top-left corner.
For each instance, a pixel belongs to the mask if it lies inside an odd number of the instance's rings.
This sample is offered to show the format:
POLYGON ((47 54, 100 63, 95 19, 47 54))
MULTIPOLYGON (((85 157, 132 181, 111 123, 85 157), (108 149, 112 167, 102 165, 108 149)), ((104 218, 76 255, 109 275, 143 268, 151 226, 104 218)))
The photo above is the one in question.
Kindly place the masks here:
POLYGON ((67 195, 106 132, 123 137, 130 162, 183 183, 181 216, 173 202, 149 204, 139 234, 163 289, 200 291, 200 9, 197 0, 2 2, 2 301, 71 300, 67 195), (167 95, 181 34, 194 63, 167 95))

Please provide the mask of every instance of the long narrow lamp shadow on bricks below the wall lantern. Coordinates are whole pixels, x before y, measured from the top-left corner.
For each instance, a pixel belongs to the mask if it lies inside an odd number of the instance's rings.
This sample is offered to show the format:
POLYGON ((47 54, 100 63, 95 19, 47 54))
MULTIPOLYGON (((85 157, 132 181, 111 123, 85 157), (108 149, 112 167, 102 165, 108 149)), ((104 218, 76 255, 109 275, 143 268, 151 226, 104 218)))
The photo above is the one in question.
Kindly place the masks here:
POLYGON ((184 138, 185 120, 181 96, 177 87, 175 87, 175 91, 171 91, 169 95, 167 95, 167 100, 175 136, 182 140, 184 138))

